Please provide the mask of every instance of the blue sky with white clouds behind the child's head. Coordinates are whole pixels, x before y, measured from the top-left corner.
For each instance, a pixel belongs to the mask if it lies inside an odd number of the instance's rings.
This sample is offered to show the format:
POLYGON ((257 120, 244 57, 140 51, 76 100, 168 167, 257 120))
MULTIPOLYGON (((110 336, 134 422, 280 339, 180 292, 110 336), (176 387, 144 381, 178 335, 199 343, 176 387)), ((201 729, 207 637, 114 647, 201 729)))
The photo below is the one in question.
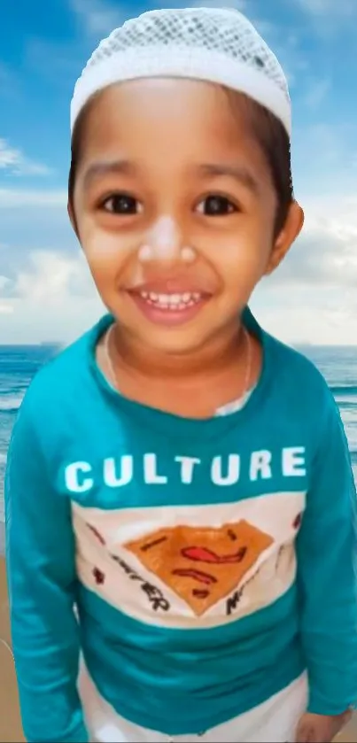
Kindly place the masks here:
MULTIPOLYGON (((306 212, 303 235, 252 308, 285 341, 355 344, 357 0, 229 4, 288 76, 294 187, 306 212)), ((103 312, 66 215, 69 104, 101 38, 152 7, 163 5, 17 0, 0 10, 0 344, 68 342, 103 312)))

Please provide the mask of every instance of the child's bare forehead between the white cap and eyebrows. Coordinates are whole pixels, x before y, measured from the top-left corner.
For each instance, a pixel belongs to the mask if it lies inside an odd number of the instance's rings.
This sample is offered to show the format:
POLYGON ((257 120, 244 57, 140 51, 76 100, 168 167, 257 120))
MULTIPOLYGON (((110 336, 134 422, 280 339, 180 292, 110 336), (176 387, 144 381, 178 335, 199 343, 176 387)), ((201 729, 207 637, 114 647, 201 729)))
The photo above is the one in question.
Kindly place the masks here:
POLYGON ((167 138, 172 146, 187 143, 195 151, 205 143, 237 147, 249 138, 244 98, 234 110, 221 86, 204 81, 152 79, 129 81, 105 89, 88 112, 87 143, 125 142, 146 146, 167 138), (191 143, 189 144, 189 142, 191 143))

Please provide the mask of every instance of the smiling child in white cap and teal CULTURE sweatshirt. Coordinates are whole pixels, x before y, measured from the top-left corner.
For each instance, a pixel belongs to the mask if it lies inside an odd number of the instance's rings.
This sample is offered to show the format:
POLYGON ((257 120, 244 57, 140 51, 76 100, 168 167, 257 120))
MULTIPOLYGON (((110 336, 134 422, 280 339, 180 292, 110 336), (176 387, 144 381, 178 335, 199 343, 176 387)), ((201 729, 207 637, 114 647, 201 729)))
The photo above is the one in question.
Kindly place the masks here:
POLYGON ((69 214, 109 314, 12 435, 30 741, 330 741, 356 700, 345 434, 248 309, 303 222, 290 131, 281 67, 230 10, 145 13, 77 82, 69 214))

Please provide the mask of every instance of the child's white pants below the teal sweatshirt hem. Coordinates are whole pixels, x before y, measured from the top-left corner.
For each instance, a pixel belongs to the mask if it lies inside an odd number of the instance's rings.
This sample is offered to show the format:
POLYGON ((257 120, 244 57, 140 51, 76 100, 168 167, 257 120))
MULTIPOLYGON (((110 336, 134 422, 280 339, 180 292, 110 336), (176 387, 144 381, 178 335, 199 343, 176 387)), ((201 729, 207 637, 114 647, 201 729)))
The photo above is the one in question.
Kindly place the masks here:
POLYGON ((146 730, 117 714, 81 670, 79 690, 89 735, 95 743, 294 743, 299 717, 307 709, 307 675, 259 707, 200 735, 169 736, 146 730))

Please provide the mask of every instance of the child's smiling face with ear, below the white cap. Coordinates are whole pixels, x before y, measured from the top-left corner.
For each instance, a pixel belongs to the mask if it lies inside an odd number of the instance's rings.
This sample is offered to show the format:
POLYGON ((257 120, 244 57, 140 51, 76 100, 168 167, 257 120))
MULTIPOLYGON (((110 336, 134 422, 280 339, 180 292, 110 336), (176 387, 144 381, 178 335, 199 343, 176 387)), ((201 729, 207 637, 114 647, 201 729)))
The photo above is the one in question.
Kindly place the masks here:
POLYGON ((136 341, 182 353, 230 333, 299 232, 292 205, 275 243, 276 208, 264 154, 218 86, 130 81, 89 111, 78 232, 105 306, 136 341), (181 309, 170 308, 173 293, 186 295, 181 309), (166 307, 155 308, 158 295, 166 307))

